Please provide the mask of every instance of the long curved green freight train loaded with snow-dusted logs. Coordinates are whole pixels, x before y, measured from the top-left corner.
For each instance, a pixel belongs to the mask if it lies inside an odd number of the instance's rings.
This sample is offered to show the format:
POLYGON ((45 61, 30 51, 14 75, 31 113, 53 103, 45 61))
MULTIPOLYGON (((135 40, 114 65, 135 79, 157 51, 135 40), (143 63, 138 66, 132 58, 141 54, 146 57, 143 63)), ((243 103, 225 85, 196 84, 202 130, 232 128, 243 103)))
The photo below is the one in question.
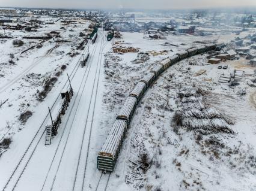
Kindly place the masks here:
POLYGON ((103 171, 114 171, 115 162, 117 161, 118 154, 120 153, 121 145, 126 135, 127 128, 132 119, 136 105, 144 95, 148 87, 154 80, 163 72, 166 68, 180 60, 187 57, 194 56, 196 54, 205 53, 210 50, 215 50, 216 47, 223 46, 222 44, 206 44, 198 48, 190 48, 185 51, 181 51, 174 56, 168 57, 159 64, 157 64, 150 72, 142 78, 139 83, 130 92, 126 102, 124 102, 120 113, 118 113, 117 119, 111 128, 111 131, 103 144, 97 156, 97 168, 103 171))

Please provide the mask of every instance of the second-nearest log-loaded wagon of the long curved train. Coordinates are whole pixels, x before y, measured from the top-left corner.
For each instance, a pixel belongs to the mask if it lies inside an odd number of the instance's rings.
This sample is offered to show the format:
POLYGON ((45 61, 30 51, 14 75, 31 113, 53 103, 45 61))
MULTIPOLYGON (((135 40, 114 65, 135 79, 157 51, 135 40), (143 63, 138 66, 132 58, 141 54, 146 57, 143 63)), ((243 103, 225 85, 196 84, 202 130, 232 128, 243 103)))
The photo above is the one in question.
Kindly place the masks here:
POLYGON ((127 123, 129 123, 135 111, 136 105, 137 99, 135 97, 128 96, 126 102, 124 102, 124 105, 121 108, 120 113, 117 116, 117 119, 124 119, 127 121, 127 123))

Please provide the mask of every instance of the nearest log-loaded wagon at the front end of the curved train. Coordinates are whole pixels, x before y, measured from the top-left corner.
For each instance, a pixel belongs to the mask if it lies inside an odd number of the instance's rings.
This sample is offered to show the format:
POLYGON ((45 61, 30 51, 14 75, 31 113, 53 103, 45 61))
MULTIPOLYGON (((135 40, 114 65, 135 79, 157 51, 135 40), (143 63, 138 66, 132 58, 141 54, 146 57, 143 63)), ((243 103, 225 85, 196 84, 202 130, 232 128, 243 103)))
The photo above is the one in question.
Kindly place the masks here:
POLYGON ((117 119, 97 156, 97 168, 112 172, 127 130, 125 120, 117 119))

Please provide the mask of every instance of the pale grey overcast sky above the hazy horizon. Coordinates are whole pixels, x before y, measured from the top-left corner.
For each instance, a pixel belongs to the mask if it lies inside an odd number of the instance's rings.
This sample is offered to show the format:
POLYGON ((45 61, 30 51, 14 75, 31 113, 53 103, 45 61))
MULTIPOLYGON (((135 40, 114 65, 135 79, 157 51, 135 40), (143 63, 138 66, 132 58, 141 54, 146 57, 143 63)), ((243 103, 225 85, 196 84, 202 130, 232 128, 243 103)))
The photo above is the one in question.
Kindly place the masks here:
POLYGON ((187 9, 251 7, 256 0, 0 0, 1 7, 187 9))

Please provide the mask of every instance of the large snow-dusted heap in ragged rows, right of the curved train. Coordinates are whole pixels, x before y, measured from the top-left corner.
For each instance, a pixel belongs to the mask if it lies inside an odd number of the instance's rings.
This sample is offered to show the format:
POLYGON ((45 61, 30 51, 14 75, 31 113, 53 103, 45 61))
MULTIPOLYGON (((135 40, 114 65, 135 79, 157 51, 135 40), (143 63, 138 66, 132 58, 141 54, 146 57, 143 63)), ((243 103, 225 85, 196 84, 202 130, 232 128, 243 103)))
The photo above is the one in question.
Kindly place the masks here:
POLYGON ((201 134, 234 134, 230 129, 230 125, 234 125, 233 120, 205 101, 205 97, 210 96, 209 92, 196 87, 182 87, 178 96, 181 102, 172 119, 175 128, 182 126, 201 134))

